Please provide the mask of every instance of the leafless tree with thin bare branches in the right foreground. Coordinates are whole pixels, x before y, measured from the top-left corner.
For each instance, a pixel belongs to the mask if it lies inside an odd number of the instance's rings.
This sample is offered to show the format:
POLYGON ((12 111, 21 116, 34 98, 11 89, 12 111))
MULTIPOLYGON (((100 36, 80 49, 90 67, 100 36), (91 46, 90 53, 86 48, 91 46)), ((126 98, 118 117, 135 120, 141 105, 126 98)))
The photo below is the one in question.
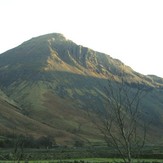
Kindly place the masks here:
POLYGON ((140 155, 146 140, 141 100, 146 94, 142 84, 128 84, 124 78, 110 80, 106 91, 106 105, 97 111, 93 123, 100 130, 108 146, 116 150, 125 163, 132 163, 140 155))

